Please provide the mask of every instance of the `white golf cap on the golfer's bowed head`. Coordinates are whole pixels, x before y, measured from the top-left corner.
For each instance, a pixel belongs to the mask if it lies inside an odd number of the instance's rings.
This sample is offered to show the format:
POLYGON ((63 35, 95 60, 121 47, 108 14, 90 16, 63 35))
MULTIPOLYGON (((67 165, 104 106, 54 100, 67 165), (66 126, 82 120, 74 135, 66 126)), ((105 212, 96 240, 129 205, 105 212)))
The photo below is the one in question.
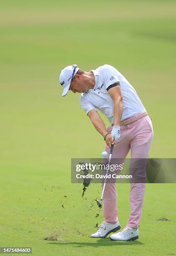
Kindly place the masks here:
POLYGON ((67 95, 69 91, 70 83, 75 74, 77 74, 79 67, 76 64, 65 67, 60 74, 59 81, 62 87, 64 87, 64 91, 62 92, 62 96, 67 95))

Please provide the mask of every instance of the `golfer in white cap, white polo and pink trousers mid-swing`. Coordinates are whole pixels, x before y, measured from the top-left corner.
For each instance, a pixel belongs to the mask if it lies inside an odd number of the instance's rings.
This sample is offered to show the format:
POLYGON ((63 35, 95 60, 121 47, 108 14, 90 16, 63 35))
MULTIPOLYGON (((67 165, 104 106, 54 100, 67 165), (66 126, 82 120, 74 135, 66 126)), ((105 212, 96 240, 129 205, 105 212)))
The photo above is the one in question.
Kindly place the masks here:
MULTIPOLYGON (((85 72, 77 65, 71 65, 61 71, 60 83, 64 88, 62 96, 66 96, 69 90, 82 93, 81 107, 106 141, 105 151, 109 152, 111 144, 114 143, 114 158, 124 159, 129 151, 131 159, 148 158, 153 138, 151 120, 133 86, 115 67, 105 64, 85 72), (108 128, 97 109, 108 118, 108 128)), ((103 198, 104 222, 91 237, 105 238, 113 232, 115 234, 110 236, 111 240, 138 239, 144 193, 145 183, 130 183, 130 216, 127 226, 115 233, 121 228, 117 218, 116 184, 107 183, 103 198)))

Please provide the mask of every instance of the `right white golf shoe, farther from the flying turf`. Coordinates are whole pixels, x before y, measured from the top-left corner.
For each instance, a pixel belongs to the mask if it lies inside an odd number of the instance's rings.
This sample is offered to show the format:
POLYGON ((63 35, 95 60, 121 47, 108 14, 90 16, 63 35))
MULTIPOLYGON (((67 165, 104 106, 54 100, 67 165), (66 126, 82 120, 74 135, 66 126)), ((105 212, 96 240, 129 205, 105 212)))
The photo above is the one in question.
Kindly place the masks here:
POLYGON ((138 228, 130 228, 126 226, 117 234, 111 235, 110 239, 112 241, 133 241, 138 239, 139 237, 139 229, 138 228))

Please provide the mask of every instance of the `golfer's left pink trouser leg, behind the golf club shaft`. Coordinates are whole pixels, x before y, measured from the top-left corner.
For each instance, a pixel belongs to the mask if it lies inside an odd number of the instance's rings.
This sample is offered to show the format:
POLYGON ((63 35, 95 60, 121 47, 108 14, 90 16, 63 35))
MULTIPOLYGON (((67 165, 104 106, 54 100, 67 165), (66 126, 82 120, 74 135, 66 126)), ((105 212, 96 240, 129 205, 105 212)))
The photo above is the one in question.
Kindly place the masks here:
MULTIPOLYGON (((107 128, 107 132, 110 133, 112 131, 112 126, 107 128)), ((114 146, 112 158, 121 158, 125 159, 130 150, 130 141, 127 136, 128 127, 121 126, 120 127, 120 139, 117 141, 114 146)), ((107 151, 108 156, 110 154, 110 148, 108 146, 105 147, 105 151, 107 151)), ((113 159, 112 159, 113 161, 113 159)), ((103 188, 103 184, 102 184, 103 188)), ((107 183, 103 195, 103 217, 105 222, 107 223, 116 223, 117 222, 117 191, 115 183, 107 183)))

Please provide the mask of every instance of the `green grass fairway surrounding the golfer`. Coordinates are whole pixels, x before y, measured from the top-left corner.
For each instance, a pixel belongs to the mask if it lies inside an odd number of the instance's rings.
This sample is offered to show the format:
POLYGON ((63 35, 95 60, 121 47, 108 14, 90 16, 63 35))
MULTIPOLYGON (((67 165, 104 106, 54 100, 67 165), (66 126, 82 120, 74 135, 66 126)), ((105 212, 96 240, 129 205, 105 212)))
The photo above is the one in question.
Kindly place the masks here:
MULTIPOLYGON (((150 157, 176 157, 176 1, 1 2, 0 246, 32 247, 35 256, 176 255, 176 184, 146 185, 137 241, 89 238, 103 220, 100 184, 82 198, 71 158, 99 158, 105 143, 80 95, 61 97, 58 82, 69 64, 115 66, 152 117, 150 157), (58 241, 43 239, 51 235, 58 241)), ((117 184, 122 228, 129 189, 117 184)))

